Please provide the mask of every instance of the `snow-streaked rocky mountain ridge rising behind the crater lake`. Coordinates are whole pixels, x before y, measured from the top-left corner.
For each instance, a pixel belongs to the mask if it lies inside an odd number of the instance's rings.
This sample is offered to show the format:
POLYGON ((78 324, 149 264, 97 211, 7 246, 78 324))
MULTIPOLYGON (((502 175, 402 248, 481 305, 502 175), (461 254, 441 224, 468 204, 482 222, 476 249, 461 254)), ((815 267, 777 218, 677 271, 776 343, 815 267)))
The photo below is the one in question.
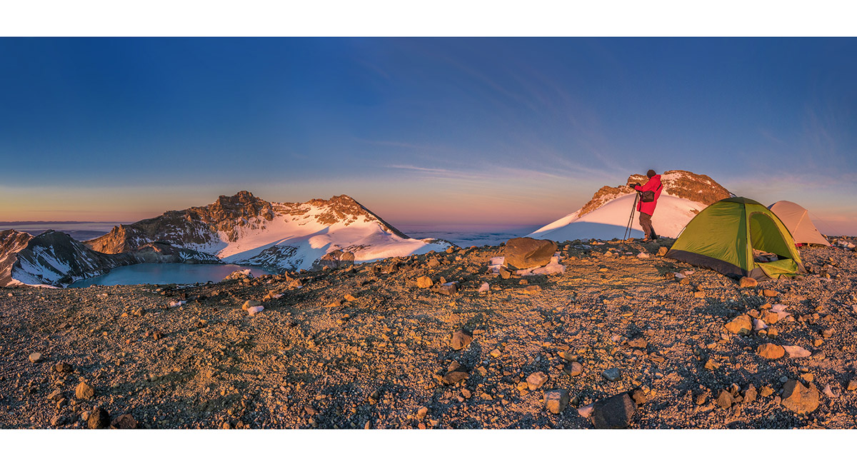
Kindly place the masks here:
POLYGON ((411 239, 347 195, 273 203, 246 191, 220 196, 211 205, 120 225, 86 244, 102 253, 123 253, 153 241, 277 271, 309 269, 336 250, 351 252, 362 262, 450 246, 411 239))

